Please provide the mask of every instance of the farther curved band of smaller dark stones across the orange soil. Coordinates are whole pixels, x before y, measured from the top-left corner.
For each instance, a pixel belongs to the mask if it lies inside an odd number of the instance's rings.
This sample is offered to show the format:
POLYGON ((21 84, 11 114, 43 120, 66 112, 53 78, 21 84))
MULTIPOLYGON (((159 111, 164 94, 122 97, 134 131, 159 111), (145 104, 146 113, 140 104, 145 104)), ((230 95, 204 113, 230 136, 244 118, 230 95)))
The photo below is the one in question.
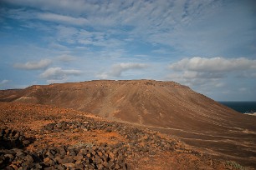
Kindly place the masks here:
MULTIPOLYGON (((119 143, 122 148, 130 148, 126 155, 132 155, 132 152, 154 153, 153 150, 158 151, 174 151, 177 147, 176 140, 166 140, 156 135, 156 133, 145 132, 141 128, 127 126, 125 124, 116 122, 93 121, 86 118, 84 122, 54 122, 44 126, 43 131, 49 133, 63 133, 63 132, 93 132, 95 130, 103 130, 105 133, 117 132, 127 141, 126 143, 119 143)), ((114 146, 115 148, 115 146, 114 146)))

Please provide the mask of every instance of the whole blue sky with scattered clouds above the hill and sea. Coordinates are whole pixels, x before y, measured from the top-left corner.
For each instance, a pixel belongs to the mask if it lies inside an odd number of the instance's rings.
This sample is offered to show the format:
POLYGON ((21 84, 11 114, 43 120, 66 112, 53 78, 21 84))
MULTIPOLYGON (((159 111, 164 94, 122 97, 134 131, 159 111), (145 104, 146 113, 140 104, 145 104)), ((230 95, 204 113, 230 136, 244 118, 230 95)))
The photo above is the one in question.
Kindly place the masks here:
POLYGON ((0 0, 0 89, 95 79, 256 101, 256 1, 0 0))

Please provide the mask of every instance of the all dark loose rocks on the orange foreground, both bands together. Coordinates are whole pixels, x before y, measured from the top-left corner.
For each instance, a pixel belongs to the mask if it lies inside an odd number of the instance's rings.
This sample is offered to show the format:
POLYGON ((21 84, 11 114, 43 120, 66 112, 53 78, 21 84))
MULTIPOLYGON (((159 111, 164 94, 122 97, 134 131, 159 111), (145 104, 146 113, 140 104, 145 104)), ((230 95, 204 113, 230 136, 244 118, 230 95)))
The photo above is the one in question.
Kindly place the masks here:
MULTIPOLYGON (((41 133, 116 132, 125 142, 83 143, 72 146, 49 146, 33 152, 25 149, 32 138, 11 128, 0 130, 0 169, 128 169, 128 159, 136 155, 155 155, 157 151, 174 151, 177 143, 160 138, 117 122, 94 121, 87 117, 81 122, 53 122, 45 125, 41 133)), ((115 140, 115 139, 114 139, 115 140)))

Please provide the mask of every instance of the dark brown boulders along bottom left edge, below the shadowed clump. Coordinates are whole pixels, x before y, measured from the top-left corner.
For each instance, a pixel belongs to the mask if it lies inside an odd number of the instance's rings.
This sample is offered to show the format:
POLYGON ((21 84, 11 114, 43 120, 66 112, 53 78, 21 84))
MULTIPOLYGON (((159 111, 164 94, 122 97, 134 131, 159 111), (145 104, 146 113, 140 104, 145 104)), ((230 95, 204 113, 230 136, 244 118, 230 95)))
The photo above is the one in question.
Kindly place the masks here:
POLYGON ((23 149, 0 152, 1 169, 127 169, 123 157, 110 148, 45 148, 36 153, 23 149))

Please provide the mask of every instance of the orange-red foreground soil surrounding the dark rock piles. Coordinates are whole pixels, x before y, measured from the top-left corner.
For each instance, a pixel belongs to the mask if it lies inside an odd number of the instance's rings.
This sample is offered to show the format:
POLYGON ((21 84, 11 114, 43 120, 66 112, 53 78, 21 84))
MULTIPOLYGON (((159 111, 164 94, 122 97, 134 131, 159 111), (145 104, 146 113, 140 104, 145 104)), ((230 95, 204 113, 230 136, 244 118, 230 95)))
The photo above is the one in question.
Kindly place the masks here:
MULTIPOLYGON (((73 109, 18 102, 0 102, 0 128, 3 127, 16 129, 24 132, 27 138, 33 138, 33 143, 24 148, 28 152, 64 145, 83 148, 85 143, 93 143, 95 146, 100 145, 100 143, 107 143, 110 146, 122 143, 124 147, 136 144, 134 147, 128 148, 127 152, 130 151, 131 154, 127 153, 125 157, 128 169, 237 169, 236 166, 239 166, 234 162, 212 158, 202 153, 200 149, 182 143, 170 135, 156 133, 147 128, 138 128, 131 124, 106 121, 100 117, 94 117, 73 109), (111 132, 106 129, 84 131, 81 128, 70 127, 63 132, 59 131, 58 128, 47 131, 46 127, 53 122, 55 124, 61 122, 97 122, 108 125, 111 132), (56 132, 54 132, 55 130, 56 132), (129 138, 127 135, 135 135, 136 137, 129 138), (172 145, 168 143, 172 143, 172 145)), ((97 126, 95 125, 95 127, 97 126)), ((44 158, 44 162, 46 162, 46 158, 44 158)), ((12 168, 18 168, 22 165, 21 162, 10 164, 12 168)))

